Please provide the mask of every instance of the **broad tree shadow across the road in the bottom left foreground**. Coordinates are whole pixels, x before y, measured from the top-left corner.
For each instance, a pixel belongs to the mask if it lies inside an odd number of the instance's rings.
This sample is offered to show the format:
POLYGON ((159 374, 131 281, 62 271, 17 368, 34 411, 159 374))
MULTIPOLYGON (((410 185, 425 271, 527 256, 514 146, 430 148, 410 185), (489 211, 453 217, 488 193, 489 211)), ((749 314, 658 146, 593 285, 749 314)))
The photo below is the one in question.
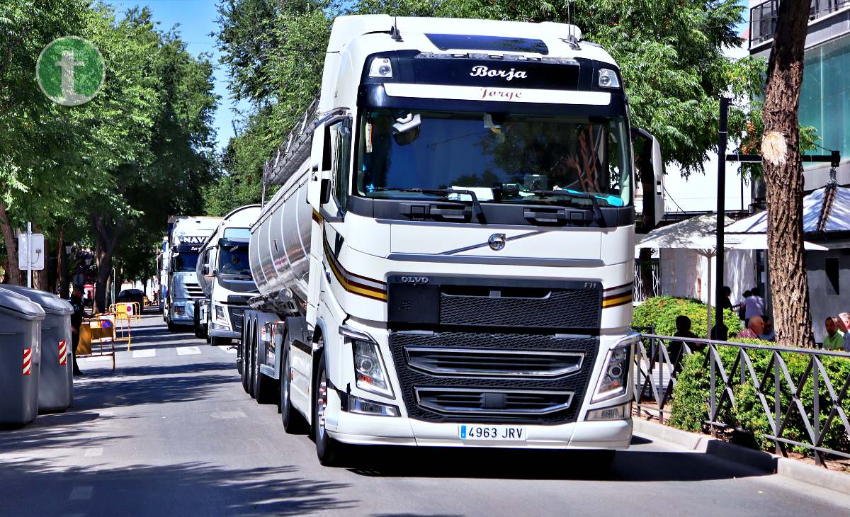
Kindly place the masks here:
POLYGON ((296 472, 292 466, 225 469, 209 463, 120 469, 4 463, 3 515, 302 515, 359 503, 337 498, 347 484, 296 472), (75 497, 75 490, 91 496, 75 497))

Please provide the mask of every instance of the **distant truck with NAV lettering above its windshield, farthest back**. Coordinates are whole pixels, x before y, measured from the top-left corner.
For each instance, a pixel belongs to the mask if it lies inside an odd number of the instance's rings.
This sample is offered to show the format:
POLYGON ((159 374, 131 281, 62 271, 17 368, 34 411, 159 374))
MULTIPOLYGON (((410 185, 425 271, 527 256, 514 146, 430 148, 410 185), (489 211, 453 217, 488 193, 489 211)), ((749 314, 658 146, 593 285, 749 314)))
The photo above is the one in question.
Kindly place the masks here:
POLYGON ((218 217, 180 215, 168 221, 168 270, 163 318, 168 330, 194 325, 195 300, 203 298, 195 276, 201 244, 215 231, 218 217))

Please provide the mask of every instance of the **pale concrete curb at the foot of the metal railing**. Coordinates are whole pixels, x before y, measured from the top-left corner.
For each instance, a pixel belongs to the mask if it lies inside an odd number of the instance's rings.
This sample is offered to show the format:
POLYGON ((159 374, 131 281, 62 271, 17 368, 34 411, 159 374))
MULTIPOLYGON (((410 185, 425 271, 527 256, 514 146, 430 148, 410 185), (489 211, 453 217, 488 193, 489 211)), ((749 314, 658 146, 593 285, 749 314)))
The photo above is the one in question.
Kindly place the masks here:
POLYGON ((647 435, 658 440, 669 441, 691 451, 711 454, 729 462, 745 464, 792 480, 850 495, 850 475, 847 474, 809 465, 789 457, 736 446, 711 436, 675 429, 661 423, 643 420, 643 418, 632 418, 632 423, 634 423, 636 435, 647 435))

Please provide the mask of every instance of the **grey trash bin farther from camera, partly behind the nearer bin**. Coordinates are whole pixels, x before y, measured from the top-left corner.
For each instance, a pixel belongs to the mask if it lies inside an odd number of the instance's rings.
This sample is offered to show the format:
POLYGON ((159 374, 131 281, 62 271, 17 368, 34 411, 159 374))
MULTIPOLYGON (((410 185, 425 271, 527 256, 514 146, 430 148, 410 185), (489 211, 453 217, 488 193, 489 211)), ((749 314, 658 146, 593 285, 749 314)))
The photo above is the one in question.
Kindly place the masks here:
POLYGON ((55 294, 20 286, 3 286, 39 304, 42 321, 42 371, 38 379, 38 411, 64 411, 74 401, 71 314, 74 308, 55 294))

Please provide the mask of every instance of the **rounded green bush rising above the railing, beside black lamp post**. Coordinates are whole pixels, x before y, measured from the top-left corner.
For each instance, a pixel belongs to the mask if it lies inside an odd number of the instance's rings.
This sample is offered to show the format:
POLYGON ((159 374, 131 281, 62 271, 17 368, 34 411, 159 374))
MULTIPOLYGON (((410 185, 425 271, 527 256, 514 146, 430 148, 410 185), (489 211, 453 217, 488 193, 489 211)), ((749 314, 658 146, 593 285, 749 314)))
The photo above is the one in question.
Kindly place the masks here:
MULTIPOLYGON (((635 327, 655 327, 655 333, 672 336, 676 333, 676 317, 686 315, 691 321, 691 332, 700 338, 706 337, 706 304, 693 298, 674 298, 656 296, 649 298, 634 309, 632 325, 635 327)), ((743 327, 731 310, 723 311, 723 323, 729 329, 729 335, 737 334, 743 327)), ((711 310, 711 325, 714 325, 714 310, 711 310)))

